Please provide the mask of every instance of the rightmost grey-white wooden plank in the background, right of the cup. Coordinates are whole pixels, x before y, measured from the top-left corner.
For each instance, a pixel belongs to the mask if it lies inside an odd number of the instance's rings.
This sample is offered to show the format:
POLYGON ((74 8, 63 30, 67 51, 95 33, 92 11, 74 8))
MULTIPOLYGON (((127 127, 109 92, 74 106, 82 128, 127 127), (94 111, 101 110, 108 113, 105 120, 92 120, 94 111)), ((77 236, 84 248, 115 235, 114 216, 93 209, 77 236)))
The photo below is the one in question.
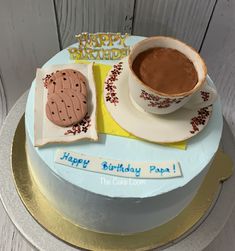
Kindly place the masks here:
POLYGON ((235 136, 235 1, 218 0, 201 50, 235 136))

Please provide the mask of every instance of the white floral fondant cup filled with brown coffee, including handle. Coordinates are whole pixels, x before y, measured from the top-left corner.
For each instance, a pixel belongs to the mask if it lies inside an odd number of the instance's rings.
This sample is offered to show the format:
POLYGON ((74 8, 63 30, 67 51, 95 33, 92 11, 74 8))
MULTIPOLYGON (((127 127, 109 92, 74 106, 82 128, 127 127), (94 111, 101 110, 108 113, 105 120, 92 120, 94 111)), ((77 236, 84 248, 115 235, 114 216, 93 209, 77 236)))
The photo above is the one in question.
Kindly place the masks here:
POLYGON ((157 36, 140 41, 131 50, 128 67, 130 98, 146 112, 202 108, 217 97, 215 88, 207 84, 203 59, 177 39, 157 36), (202 93, 207 93, 206 99, 202 93))

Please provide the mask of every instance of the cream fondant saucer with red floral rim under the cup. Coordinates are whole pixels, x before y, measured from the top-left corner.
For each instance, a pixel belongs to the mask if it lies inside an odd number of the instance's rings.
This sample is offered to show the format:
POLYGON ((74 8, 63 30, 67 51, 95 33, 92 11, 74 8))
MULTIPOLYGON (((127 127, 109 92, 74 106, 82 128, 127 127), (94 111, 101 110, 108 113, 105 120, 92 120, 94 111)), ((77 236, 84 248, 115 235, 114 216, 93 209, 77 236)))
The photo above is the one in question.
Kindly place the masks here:
MULTIPOLYGON (((209 77, 207 81, 213 85, 209 77)), ((133 103, 128 89, 128 62, 124 58, 113 65, 106 78, 104 103, 122 128, 151 142, 172 143, 189 139, 205 128, 212 113, 212 106, 208 106, 195 110, 181 108, 166 115, 149 114, 133 103)))

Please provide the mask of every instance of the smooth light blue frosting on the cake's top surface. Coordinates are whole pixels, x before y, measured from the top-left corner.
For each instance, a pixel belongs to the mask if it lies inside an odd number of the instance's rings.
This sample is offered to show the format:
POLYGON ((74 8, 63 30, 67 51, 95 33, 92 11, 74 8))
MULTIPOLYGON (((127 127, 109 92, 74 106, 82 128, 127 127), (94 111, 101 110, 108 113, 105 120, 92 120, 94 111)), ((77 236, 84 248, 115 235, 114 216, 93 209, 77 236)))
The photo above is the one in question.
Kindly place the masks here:
MULTIPOLYGON (((127 39, 127 44, 133 45, 142 39, 143 37, 132 36, 127 39)), ((99 62, 103 64, 115 63, 115 61, 99 62)), ((67 49, 65 49, 51 58, 44 66, 67 63, 72 63, 72 61, 69 59, 67 49)), ((34 90, 35 81, 33 81, 29 92, 25 116, 26 129, 32 142, 34 138, 34 90)), ((104 134, 99 135, 98 142, 54 144, 42 148, 36 147, 36 151, 56 175, 76 186, 109 197, 144 198, 182 187, 196 177, 217 151, 222 127, 221 105, 220 101, 217 100, 213 106, 212 117, 208 125, 201 133, 188 140, 188 147, 185 151, 104 134), (117 160, 156 162, 176 160, 180 162, 183 176, 171 179, 136 180, 69 168, 54 162, 55 151, 58 148, 117 160)))

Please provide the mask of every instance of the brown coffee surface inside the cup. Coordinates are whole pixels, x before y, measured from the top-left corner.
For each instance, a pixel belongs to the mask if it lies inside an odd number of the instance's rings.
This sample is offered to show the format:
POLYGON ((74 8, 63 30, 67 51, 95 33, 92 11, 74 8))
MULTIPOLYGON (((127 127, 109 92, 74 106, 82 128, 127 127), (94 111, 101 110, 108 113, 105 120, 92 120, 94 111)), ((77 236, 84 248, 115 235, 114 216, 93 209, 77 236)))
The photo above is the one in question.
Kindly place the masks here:
POLYGON ((166 94, 190 91, 198 81, 193 63, 170 48, 152 48, 140 53, 132 69, 146 85, 166 94))

